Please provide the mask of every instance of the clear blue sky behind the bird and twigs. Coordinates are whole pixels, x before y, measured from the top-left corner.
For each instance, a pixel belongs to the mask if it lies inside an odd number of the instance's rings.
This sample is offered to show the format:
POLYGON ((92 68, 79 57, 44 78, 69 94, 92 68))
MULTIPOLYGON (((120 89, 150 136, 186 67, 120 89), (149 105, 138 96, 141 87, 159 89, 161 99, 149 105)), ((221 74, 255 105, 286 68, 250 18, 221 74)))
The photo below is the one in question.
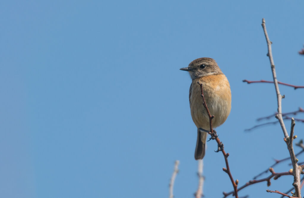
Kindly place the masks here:
MULTIPOLYGON (((0 196, 168 197, 197 189, 186 67, 214 58, 230 81, 232 110, 217 128, 240 185, 288 156, 279 125, 244 129, 276 111, 266 19, 278 80, 303 85, 303 1, 2 1, 0 196)), ((303 91, 281 86, 283 111, 303 91)), ((299 115, 298 117, 304 117, 299 115)), ((275 121, 275 119, 273 119, 275 121)), ((290 128, 290 121, 286 121, 290 128)), ((297 122, 295 134, 304 125, 297 122)), ((222 154, 208 142, 206 197, 232 190, 222 154)), ((299 149, 296 149, 299 150, 299 149)), ((303 156, 299 157, 300 161, 303 156)), ((288 171, 287 163, 275 171, 288 171)), ((292 176, 240 195, 278 197, 292 176)))

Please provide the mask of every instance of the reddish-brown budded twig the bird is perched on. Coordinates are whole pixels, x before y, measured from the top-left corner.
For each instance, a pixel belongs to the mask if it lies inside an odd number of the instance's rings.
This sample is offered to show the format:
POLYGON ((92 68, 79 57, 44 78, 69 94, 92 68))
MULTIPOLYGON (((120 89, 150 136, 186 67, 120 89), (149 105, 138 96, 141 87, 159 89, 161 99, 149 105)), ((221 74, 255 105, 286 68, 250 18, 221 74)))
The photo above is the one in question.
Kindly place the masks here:
POLYGON ((216 136, 215 131, 213 131, 213 128, 212 128, 212 119, 214 118, 214 115, 211 115, 211 114, 210 114, 210 111, 209 111, 208 106, 207 106, 207 104, 206 104, 205 96, 204 96, 204 92, 203 92, 202 83, 199 83, 199 82, 197 82, 197 83, 199 84, 199 86, 200 86, 200 88, 201 88, 201 97, 202 97, 202 99, 203 99, 203 105, 204 105, 204 107, 205 107, 205 109, 206 109, 206 111, 207 111, 207 113, 208 113, 208 116, 209 116, 209 123, 210 123, 210 132, 209 132, 209 134, 210 134, 212 137, 216 137, 215 140, 216 140, 216 142, 217 142, 217 144, 218 144, 218 147, 219 147, 218 150, 222 151, 222 153, 223 153, 223 155, 224 155, 224 158, 225 158, 226 168, 223 168, 223 171, 225 171, 225 172, 228 174, 228 176, 229 176, 229 178, 230 178, 230 180, 231 180, 233 189, 234 189, 234 195, 235 195, 236 198, 238 198, 238 195, 237 195, 237 184, 238 184, 239 181, 238 181, 238 180, 236 180, 236 181, 233 180, 233 177, 232 177, 232 174, 231 174, 230 168, 229 168, 229 163, 228 163, 228 156, 229 156, 229 153, 226 153, 226 152, 225 152, 225 150, 224 150, 224 148, 223 148, 223 143, 222 143, 222 142, 219 140, 219 138, 216 136))

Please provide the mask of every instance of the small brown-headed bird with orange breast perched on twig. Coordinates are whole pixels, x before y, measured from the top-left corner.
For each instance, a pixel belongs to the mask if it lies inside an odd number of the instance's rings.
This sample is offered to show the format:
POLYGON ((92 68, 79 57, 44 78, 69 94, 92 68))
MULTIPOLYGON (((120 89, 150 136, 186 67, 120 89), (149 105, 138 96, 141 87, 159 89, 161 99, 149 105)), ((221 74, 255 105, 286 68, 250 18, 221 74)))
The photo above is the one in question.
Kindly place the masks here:
POLYGON ((210 130, 209 116, 203 106, 201 97, 202 84, 203 94, 211 115, 212 126, 216 128, 222 125, 231 110, 231 90, 227 77, 217 65, 213 58, 197 58, 190 62, 188 67, 180 70, 188 71, 192 79, 189 90, 189 102, 192 120, 197 127, 197 140, 194 158, 203 159, 206 152, 206 139, 208 133, 199 128, 210 130))

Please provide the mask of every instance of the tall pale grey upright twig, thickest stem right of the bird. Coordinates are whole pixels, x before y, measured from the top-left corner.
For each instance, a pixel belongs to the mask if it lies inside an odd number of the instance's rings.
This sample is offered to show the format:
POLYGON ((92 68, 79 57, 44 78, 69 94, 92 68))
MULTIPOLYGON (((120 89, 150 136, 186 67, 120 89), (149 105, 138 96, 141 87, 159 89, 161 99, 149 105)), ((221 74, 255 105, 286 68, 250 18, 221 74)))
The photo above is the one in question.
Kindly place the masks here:
MULTIPOLYGON (((292 161, 293 176, 294 176, 294 182, 293 182, 292 185, 295 187, 295 196, 301 197, 300 170, 299 170, 298 164, 297 164, 298 159, 295 157, 295 153, 294 153, 294 150, 293 150, 293 147, 292 147, 293 137, 291 136, 289 138, 286 127, 285 127, 285 124, 284 124, 284 121, 283 121, 283 118, 282 118, 282 95, 280 94, 280 90, 279 90, 279 86, 278 86, 277 75, 276 75, 276 72, 275 72, 275 63, 273 61, 272 52, 271 52, 271 41, 269 40, 269 37, 268 37, 268 34, 267 34, 264 18, 262 20, 262 27, 263 27, 265 38, 266 38, 266 41, 267 41, 267 46, 268 46, 268 54, 267 55, 269 57, 269 61, 270 61, 270 65, 271 65, 271 71, 272 71, 273 81, 274 81, 274 84, 275 84, 275 91, 276 91, 277 100, 278 100, 278 114, 276 115, 276 118, 278 118, 278 120, 281 124, 281 128, 283 130, 284 137, 285 137, 284 140, 286 140, 287 148, 288 148, 290 158, 291 158, 291 161, 292 161)), ((294 122, 294 120, 293 120, 293 122, 294 122)), ((293 126, 292 126, 292 132, 291 133, 293 134, 293 126)))

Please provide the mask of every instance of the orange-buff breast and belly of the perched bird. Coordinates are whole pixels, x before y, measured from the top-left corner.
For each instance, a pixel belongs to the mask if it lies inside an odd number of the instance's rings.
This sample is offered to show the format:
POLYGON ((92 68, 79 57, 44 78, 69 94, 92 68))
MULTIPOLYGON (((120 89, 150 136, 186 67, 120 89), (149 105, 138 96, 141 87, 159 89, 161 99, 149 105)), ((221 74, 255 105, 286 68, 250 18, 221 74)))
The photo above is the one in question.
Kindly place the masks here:
POLYGON ((202 83, 203 93, 212 119, 213 128, 223 124, 231 110, 231 92, 229 82, 224 74, 203 76, 192 80, 189 93, 192 120, 197 126, 209 130, 209 117, 203 106, 201 89, 197 82, 202 83))

